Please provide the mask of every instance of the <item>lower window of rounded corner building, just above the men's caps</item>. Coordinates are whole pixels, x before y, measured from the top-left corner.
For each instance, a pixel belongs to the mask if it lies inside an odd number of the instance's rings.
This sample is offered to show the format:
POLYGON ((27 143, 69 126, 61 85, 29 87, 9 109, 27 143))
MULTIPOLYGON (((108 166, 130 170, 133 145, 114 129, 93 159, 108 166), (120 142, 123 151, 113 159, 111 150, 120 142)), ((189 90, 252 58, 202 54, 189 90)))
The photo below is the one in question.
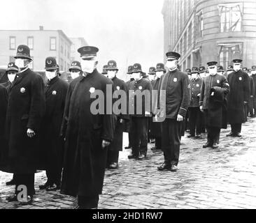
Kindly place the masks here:
POLYGON ((220 66, 227 68, 232 63, 233 59, 243 57, 243 44, 242 43, 220 43, 218 60, 220 66))

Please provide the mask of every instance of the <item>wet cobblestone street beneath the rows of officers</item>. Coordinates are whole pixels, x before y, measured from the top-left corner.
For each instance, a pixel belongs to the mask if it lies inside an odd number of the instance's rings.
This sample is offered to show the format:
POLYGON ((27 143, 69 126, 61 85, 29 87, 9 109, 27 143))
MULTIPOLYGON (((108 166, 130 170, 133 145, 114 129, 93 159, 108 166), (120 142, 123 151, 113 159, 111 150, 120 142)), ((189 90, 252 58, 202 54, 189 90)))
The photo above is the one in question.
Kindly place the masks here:
MULTIPOLYGON (((220 148, 202 148, 204 139, 182 139, 177 172, 157 171, 163 161, 160 151, 144 161, 127 160, 129 150, 120 153, 118 170, 107 170, 99 208, 256 208, 256 123, 243 124, 243 137, 226 137, 222 130, 220 148)), ((127 134, 125 134, 127 139, 127 134)), ((127 140, 124 142, 127 145, 127 140)), ((30 206, 7 203, 6 186, 11 174, 0 171, 0 208, 73 208, 76 199, 59 192, 39 191, 45 173, 36 174, 36 196, 30 206)))

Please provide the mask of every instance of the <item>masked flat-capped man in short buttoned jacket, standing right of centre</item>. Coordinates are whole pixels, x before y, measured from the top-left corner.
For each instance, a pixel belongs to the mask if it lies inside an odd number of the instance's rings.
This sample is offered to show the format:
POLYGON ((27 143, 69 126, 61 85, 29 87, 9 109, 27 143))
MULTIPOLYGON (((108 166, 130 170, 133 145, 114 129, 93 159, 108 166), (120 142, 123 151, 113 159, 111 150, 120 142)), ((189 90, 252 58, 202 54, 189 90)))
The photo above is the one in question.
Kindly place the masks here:
POLYGON ((180 54, 166 53, 166 67, 169 71, 163 75, 159 84, 159 112, 162 122, 162 150, 164 163, 157 167, 159 171, 177 171, 180 155, 180 139, 183 120, 190 103, 190 81, 185 72, 177 69, 180 54))

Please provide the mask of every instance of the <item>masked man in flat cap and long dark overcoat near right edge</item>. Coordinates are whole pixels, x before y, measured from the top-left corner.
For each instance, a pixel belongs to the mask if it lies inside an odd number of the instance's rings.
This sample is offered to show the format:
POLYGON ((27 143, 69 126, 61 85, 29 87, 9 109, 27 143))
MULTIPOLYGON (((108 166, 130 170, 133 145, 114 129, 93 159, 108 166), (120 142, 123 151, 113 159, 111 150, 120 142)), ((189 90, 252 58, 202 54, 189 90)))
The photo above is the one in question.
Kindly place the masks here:
POLYGON ((244 105, 250 100, 249 76, 241 70, 241 59, 234 59, 234 72, 227 76, 230 93, 227 96, 227 113, 231 132, 227 137, 241 137, 242 123, 246 121, 244 105))

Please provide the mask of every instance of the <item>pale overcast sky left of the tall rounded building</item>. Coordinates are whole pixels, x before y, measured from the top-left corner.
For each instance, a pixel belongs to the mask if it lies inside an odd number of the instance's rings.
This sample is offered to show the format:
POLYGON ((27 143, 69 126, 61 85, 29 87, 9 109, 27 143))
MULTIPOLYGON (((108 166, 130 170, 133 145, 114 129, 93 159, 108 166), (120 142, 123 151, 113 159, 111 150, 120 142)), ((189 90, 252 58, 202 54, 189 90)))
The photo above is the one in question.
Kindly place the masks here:
POLYGON ((1 0, 0 29, 62 29, 99 47, 99 71, 114 59, 120 74, 141 63, 144 72, 164 55, 163 0, 1 0))

